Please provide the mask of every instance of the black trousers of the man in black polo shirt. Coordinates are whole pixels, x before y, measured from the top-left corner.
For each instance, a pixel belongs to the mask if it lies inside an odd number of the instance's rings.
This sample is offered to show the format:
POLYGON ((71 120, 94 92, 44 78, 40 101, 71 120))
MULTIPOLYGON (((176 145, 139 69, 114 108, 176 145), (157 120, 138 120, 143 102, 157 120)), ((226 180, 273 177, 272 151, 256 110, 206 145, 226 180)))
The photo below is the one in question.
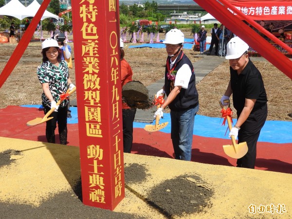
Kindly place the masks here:
POLYGON ((261 128, 264 126, 268 115, 267 104, 260 110, 251 113, 247 120, 241 125, 238 131, 238 143, 246 142, 247 154, 237 159, 237 167, 255 168, 256 163, 256 142, 261 128))

